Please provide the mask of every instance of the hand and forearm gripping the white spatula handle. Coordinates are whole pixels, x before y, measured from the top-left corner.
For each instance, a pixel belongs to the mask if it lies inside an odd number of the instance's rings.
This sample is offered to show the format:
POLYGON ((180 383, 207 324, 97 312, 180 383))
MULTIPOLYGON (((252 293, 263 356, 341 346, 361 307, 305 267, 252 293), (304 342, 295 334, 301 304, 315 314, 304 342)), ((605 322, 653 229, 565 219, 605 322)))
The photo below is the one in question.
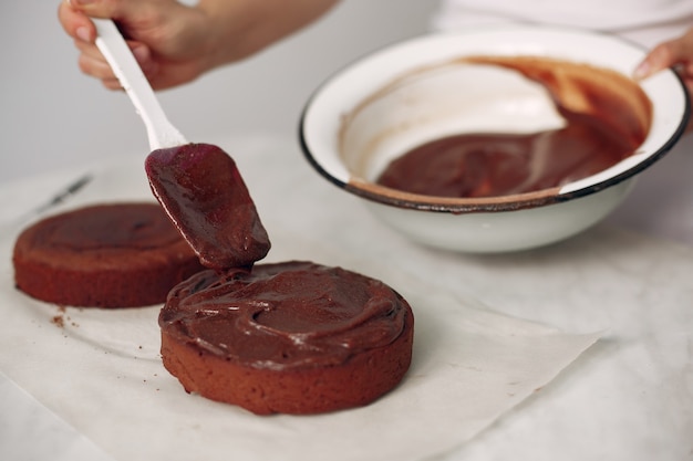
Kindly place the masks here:
POLYGON ((64 0, 58 15, 80 51, 82 72, 121 87, 95 45, 90 18, 111 18, 155 90, 188 83, 289 35, 337 0, 64 0))

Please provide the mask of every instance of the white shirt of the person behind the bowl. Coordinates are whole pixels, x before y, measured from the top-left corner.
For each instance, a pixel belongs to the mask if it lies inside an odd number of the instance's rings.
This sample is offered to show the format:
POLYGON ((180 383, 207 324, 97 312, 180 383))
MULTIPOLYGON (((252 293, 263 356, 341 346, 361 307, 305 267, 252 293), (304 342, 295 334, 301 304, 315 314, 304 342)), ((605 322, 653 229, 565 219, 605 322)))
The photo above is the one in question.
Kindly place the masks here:
POLYGON ((693 27, 693 0, 443 0, 433 27, 508 22, 610 32, 651 48, 693 27))

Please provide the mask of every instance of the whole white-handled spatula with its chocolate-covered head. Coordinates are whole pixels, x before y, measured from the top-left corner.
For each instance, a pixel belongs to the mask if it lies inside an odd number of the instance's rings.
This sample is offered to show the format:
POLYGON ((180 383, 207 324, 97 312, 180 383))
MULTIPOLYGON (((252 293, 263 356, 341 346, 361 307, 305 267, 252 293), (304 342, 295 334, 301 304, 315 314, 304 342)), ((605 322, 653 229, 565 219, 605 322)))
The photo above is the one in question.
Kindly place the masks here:
POLYGON ((94 22, 96 45, 147 127, 145 170, 154 196, 203 264, 252 266, 270 242, 236 163, 216 146, 189 144, 166 118, 113 21, 94 22))

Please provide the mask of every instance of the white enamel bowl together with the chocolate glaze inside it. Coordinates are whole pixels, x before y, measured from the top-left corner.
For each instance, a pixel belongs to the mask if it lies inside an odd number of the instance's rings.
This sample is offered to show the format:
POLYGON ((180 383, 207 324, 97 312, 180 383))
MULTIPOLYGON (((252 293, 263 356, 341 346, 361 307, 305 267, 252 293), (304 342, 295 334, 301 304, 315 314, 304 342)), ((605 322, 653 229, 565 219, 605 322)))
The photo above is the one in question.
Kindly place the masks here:
POLYGON ((630 77, 644 55, 537 27, 417 38, 325 82, 301 143, 318 172, 416 242, 544 245, 611 212, 683 134, 681 80, 630 77))

